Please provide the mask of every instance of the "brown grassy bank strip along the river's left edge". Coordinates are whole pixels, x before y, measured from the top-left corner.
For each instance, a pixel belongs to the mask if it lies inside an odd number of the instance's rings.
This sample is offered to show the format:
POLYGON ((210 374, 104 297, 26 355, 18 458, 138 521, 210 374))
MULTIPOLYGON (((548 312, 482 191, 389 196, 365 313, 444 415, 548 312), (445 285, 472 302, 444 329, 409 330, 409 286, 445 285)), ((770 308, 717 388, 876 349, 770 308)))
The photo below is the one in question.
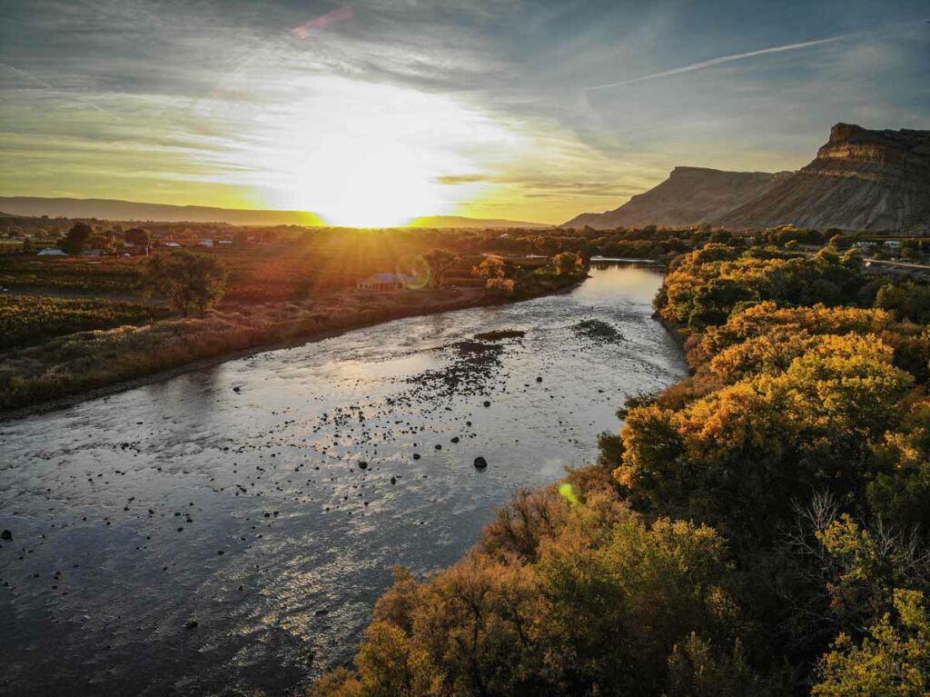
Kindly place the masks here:
POLYGON ((84 331, 7 351, 0 367, 0 421, 61 409, 260 351, 318 342, 416 315, 530 300, 574 288, 578 276, 547 275, 511 295, 484 288, 328 292, 312 302, 233 305, 204 317, 84 331))

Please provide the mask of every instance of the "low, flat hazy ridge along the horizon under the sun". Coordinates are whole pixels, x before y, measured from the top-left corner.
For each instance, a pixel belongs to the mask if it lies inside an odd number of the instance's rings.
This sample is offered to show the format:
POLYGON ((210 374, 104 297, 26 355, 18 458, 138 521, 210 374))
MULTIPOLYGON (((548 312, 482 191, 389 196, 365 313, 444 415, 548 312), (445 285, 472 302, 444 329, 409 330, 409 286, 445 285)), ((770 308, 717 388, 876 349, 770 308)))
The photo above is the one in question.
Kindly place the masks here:
MULTIPOLYGON (((208 206, 172 206, 110 198, 43 198, 0 196, 7 217, 97 218, 103 221, 226 222, 231 225, 324 226, 316 213, 303 210, 251 210, 208 206)), ((482 220, 460 216, 427 216, 411 223, 417 227, 551 227, 540 222, 482 220)))

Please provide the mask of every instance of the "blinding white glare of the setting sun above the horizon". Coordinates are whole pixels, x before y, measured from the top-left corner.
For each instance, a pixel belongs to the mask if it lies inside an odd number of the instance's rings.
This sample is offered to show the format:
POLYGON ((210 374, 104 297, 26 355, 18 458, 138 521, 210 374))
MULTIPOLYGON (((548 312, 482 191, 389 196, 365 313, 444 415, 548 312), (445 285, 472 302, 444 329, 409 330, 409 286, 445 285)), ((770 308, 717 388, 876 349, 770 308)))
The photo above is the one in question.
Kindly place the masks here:
POLYGON ((488 184, 442 177, 481 171, 478 154, 517 140, 486 114, 413 89, 311 76, 295 93, 252 120, 232 155, 246 168, 234 176, 269 208, 312 211, 333 225, 389 227, 454 212, 488 184))

